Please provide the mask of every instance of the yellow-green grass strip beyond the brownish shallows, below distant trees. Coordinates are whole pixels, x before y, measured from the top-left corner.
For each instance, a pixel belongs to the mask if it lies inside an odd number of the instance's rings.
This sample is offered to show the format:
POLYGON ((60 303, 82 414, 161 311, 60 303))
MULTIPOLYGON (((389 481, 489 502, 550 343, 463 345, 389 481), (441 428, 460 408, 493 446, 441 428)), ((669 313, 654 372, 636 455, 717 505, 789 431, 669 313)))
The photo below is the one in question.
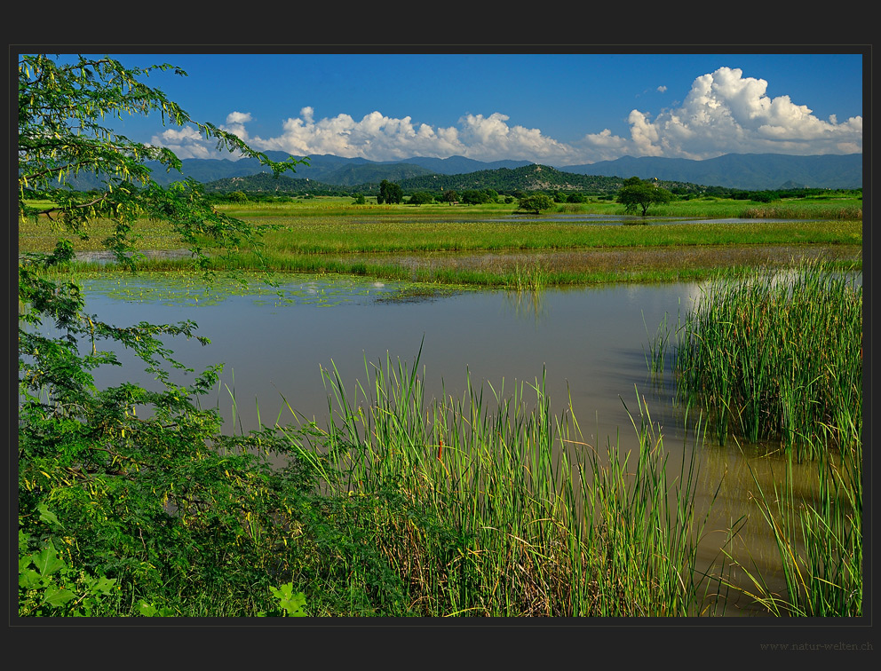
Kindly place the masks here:
MULTIPOLYGON (((725 201, 707 210, 697 209, 700 201, 680 201, 671 213, 661 216, 728 218, 745 214, 743 201, 725 201), (741 208, 734 210, 734 208, 741 208)), ((559 206, 571 211, 575 206, 559 206)), ((584 214, 620 214, 610 208, 620 206, 577 206, 584 214)), ((788 205, 787 207, 794 207, 788 205)), ((814 212, 798 206, 804 212, 814 212)), ((826 207, 825 205, 822 207, 826 207)), ((750 245, 790 243, 862 243, 861 213, 845 220, 829 218, 822 222, 708 223, 689 225, 602 226, 573 225, 536 220, 506 221, 511 206, 349 206, 336 201, 324 204, 250 204, 247 208, 228 206, 227 214, 251 220, 265 233, 266 249, 279 254, 332 252, 393 252, 439 250, 575 249, 670 245, 750 245), (483 221, 481 219, 490 219, 483 221)), ((854 213, 855 214, 855 213, 854 213)), ((813 218, 813 217, 812 217, 813 218)), ((823 218, 823 217, 821 217, 823 218)), ((90 239, 75 240, 77 251, 102 249, 101 242, 111 227, 96 221, 89 229, 90 239)), ((182 245, 164 222, 140 221, 136 233, 143 237, 139 249, 179 249, 182 245)), ((57 238, 44 221, 19 223, 20 251, 48 251, 57 238)))

